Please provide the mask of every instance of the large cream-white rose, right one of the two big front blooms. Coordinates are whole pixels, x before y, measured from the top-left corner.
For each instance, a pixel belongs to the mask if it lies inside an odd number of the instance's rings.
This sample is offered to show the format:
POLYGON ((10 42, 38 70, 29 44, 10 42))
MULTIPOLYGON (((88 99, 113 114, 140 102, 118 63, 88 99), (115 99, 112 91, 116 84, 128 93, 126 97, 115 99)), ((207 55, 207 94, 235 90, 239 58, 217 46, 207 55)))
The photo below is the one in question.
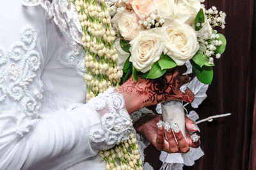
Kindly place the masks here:
POLYGON ((199 49, 196 32, 188 24, 173 20, 163 25, 161 33, 164 54, 170 56, 178 66, 184 65, 199 49))

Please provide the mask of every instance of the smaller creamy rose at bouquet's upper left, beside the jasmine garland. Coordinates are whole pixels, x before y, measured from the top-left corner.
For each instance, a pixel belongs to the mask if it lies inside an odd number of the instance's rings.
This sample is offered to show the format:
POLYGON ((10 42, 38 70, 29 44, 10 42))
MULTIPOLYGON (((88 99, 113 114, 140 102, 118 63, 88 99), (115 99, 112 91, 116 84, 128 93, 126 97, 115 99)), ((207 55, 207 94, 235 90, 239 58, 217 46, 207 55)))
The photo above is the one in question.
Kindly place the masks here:
POLYGON ((138 24, 138 18, 135 13, 130 13, 129 11, 123 11, 121 13, 116 13, 112 19, 113 24, 118 27, 118 30, 122 37, 131 41, 139 32, 143 30, 143 27, 138 24))

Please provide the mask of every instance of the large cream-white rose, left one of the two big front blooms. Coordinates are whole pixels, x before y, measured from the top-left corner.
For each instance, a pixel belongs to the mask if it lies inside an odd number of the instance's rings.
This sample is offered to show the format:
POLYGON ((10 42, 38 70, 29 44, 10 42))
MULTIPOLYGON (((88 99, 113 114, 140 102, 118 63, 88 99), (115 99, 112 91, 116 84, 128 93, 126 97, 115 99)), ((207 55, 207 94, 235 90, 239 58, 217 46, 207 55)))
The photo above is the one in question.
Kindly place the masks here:
POLYGON ((131 58, 133 66, 142 73, 149 71, 163 52, 163 39, 159 35, 159 28, 141 31, 131 42, 131 58))

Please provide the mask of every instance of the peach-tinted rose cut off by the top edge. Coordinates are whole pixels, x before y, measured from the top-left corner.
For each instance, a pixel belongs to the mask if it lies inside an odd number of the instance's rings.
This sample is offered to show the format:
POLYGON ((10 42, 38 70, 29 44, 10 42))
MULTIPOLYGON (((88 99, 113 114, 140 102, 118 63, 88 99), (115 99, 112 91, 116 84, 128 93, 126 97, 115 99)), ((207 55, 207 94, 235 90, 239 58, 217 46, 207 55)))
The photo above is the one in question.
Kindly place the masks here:
POLYGON ((139 18, 141 18, 141 15, 147 18, 157 8, 158 0, 133 0, 131 5, 139 18))

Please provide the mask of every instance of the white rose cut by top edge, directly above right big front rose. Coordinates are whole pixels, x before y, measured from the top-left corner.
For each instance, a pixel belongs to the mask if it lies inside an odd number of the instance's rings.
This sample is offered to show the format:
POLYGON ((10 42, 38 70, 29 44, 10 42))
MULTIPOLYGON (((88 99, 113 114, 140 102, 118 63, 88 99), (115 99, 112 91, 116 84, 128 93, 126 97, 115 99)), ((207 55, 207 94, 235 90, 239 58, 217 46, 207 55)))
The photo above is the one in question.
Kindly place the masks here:
POLYGON ((203 8, 199 0, 179 0, 176 18, 188 25, 194 25, 198 11, 203 8))

